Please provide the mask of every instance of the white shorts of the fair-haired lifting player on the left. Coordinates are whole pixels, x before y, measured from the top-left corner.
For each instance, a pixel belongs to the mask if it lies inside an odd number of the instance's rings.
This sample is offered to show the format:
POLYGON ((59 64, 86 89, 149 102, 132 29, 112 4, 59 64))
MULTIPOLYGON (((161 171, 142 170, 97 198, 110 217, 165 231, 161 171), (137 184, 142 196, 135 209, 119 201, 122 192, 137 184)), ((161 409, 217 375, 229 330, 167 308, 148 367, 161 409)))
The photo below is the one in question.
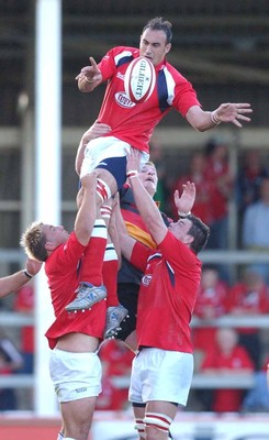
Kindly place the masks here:
POLYGON ((102 366, 97 353, 54 349, 49 373, 59 403, 96 397, 102 391, 102 366))

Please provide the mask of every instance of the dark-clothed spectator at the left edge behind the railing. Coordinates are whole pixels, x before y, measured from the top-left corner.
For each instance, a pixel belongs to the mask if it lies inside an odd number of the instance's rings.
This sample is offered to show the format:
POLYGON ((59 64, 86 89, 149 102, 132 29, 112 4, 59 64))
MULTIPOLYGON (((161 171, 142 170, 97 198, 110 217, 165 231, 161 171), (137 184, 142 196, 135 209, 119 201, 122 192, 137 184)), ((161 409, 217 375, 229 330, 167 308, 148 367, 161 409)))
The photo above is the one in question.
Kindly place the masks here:
MULTIPOLYGON (((16 346, 0 328, 0 375, 10 375, 21 369, 23 358, 16 346)), ((0 411, 18 409, 13 388, 0 388, 0 411)))

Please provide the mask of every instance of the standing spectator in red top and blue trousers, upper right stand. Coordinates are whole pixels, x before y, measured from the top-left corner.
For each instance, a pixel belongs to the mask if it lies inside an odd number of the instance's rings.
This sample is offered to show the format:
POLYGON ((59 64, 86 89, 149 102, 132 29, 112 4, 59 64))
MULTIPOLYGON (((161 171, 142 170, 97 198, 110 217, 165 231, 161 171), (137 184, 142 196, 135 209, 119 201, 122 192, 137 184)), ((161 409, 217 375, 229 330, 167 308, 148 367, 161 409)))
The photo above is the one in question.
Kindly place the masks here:
POLYGON ((233 191, 233 176, 228 167, 228 145, 212 139, 205 145, 204 183, 211 200, 210 239, 208 249, 227 248, 228 199, 233 191))

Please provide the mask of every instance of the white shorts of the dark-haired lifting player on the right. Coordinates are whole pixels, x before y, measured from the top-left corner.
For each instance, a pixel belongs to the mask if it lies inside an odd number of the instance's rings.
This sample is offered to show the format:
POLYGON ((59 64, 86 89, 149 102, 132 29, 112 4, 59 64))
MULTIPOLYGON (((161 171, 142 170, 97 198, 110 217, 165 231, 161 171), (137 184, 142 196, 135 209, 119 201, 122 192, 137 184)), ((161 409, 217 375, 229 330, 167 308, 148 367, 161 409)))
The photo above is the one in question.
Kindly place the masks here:
POLYGON ((155 348, 134 358, 128 399, 136 404, 164 400, 186 406, 193 375, 193 355, 155 348))

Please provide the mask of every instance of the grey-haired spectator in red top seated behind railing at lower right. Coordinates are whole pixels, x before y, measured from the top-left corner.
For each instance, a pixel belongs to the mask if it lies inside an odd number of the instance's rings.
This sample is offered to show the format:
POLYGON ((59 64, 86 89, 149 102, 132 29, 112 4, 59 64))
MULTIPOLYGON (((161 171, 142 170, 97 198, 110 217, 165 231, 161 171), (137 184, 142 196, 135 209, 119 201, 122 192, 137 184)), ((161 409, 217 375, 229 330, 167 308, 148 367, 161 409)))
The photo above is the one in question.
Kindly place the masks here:
MULTIPOLYGON (((254 372, 254 364, 244 346, 238 344, 237 332, 231 328, 220 328, 216 343, 210 346, 201 365, 204 374, 229 375, 238 378, 254 372)), ((210 410, 215 413, 238 411, 244 398, 243 389, 217 388, 213 391, 210 410)))

